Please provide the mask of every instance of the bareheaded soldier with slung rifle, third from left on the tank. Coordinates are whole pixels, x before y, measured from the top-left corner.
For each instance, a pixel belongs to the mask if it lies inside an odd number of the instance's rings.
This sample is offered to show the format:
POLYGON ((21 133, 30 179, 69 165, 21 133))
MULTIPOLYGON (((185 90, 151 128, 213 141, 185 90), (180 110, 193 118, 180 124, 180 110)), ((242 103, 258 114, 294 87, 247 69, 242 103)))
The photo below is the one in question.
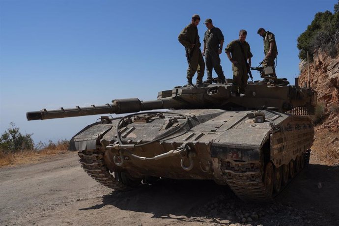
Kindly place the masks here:
POLYGON ((232 62, 233 85, 231 96, 236 96, 239 92, 240 96, 245 96, 245 87, 249 79, 248 69, 251 67, 250 45, 245 41, 247 36, 246 30, 239 31, 239 39, 228 43, 225 52, 228 59, 232 62))

